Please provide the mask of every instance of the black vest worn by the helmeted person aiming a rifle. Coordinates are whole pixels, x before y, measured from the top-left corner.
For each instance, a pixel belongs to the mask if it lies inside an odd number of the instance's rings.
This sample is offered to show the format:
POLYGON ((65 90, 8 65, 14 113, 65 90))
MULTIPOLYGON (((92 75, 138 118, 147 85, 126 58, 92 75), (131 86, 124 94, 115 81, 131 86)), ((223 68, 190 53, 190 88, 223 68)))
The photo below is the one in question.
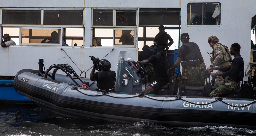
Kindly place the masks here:
POLYGON ((115 73, 113 72, 111 70, 101 70, 98 72, 99 83, 97 83, 97 87, 99 91, 114 91, 115 73))

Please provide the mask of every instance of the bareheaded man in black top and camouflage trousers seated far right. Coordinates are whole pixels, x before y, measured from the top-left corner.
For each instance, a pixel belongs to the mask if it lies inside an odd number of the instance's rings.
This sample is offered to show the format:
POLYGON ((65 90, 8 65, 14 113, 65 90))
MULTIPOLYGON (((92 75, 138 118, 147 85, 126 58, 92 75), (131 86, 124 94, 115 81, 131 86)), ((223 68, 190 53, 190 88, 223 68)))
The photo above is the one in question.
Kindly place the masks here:
POLYGON ((230 54, 234 56, 231 66, 229 67, 214 67, 210 70, 221 70, 223 73, 211 73, 211 76, 228 76, 228 80, 219 85, 218 88, 210 93, 211 97, 220 97, 224 94, 231 93, 240 87, 240 72, 244 71, 243 58, 240 55, 241 46, 234 43, 230 47, 230 54))

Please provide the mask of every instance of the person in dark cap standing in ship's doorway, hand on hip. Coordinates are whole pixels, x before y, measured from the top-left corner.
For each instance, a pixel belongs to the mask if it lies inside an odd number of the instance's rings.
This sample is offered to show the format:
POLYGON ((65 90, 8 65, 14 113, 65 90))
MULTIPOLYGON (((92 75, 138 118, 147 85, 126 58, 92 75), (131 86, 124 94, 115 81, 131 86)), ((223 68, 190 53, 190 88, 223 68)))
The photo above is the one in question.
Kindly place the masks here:
POLYGON ((164 31, 165 28, 163 25, 159 26, 158 28, 159 28, 159 33, 156 35, 153 42, 154 42, 154 45, 165 47, 165 49, 166 49, 165 56, 166 56, 167 51, 169 50, 169 47, 173 44, 173 39, 169 34, 167 34, 164 31), (168 43, 168 40, 170 41, 169 43, 168 43))

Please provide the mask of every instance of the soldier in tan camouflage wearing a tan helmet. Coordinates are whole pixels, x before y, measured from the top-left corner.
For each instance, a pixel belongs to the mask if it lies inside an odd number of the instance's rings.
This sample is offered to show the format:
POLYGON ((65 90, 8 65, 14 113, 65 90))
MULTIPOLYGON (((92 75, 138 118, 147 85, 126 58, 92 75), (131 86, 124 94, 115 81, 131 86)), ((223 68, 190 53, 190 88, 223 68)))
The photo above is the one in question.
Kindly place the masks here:
MULTIPOLYGON (((211 65, 207 68, 209 70, 210 68, 213 68, 215 66, 217 67, 229 67, 231 65, 232 57, 230 55, 229 49, 227 46, 222 45, 221 43, 218 43, 219 39, 217 36, 210 36, 208 38, 208 43, 212 47, 212 57, 211 57, 211 65)), ((218 71, 222 72, 222 71, 218 71)), ((228 77, 226 77, 227 81, 228 77)), ((224 83, 224 79, 222 76, 217 76, 215 81, 215 86, 219 86, 224 83)))

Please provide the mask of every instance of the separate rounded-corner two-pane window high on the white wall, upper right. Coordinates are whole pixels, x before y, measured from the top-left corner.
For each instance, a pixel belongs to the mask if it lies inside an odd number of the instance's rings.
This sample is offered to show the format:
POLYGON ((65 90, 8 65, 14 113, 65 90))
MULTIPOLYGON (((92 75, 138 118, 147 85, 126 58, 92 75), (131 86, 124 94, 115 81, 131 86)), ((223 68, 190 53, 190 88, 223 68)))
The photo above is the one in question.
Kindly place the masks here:
MULTIPOLYGON (((187 2, 187 3, 186 3, 186 7, 188 6, 189 3, 218 3, 218 4, 222 5, 221 2, 213 2, 213 1, 211 1, 211 2, 187 2)), ((203 8, 203 7, 202 7, 202 8, 203 8)), ((204 9, 202 9, 202 10, 204 11, 204 9)), ((220 13, 220 15, 221 15, 221 14, 222 14, 222 6, 220 6, 220 12, 221 12, 221 13, 220 13)), ((187 16, 188 16, 188 15, 187 15, 187 10, 186 10, 186 15, 185 15, 185 16, 186 16, 186 18, 187 18, 187 16)), ((187 19, 186 19, 186 21, 185 21, 185 24, 186 24, 187 27, 220 27, 220 26, 222 25, 222 17, 220 18, 220 20, 221 20, 221 21, 220 21, 220 24, 219 24, 219 25, 204 25, 204 24, 203 24, 203 25, 188 25, 188 24, 187 24, 187 19)))

